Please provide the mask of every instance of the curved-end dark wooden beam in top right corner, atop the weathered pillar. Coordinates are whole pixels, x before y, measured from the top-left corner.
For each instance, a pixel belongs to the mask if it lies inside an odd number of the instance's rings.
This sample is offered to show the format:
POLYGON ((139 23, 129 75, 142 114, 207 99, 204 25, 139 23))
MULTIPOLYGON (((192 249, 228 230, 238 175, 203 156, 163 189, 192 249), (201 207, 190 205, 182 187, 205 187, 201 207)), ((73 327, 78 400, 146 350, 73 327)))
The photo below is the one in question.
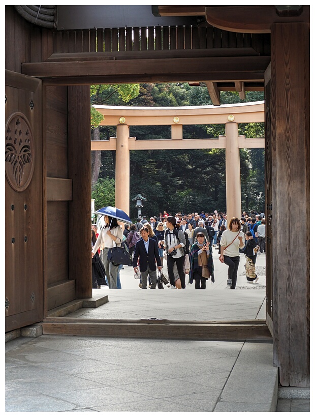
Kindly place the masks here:
POLYGON ((224 31, 270 33, 272 23, 309 24, 309 6, 299 16, 279 16, 275 6, 207 6, 206 20, 224 31))

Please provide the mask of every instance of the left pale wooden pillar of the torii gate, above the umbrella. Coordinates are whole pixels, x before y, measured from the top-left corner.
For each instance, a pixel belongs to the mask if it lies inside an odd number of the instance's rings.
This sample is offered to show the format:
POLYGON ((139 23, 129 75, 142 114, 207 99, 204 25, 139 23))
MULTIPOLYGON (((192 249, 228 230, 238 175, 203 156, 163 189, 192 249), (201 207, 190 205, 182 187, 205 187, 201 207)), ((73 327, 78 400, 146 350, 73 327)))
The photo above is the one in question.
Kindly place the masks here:
POLYGON ((117 126, 116 172, 115 172, 115 206, 129 215, 129 126, 117 126))

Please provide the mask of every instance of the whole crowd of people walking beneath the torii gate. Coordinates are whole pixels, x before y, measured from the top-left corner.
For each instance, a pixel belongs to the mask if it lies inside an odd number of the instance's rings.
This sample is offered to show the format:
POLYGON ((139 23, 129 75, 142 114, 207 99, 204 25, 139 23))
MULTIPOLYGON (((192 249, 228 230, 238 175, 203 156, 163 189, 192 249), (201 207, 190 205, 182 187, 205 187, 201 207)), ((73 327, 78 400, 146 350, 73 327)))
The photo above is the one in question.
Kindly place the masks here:
POLYGON ((243 212, 240 218, 227 222, 226 213, 177 213, 171 216, 164 211, 159 216, 139 217, 134 224, 125 224, 104 217, 105 226, 98 233, 92 225, 92 284, 93 288, 108 285, 121 288, 119 271, 123 265, 108 261, 108 251, 128 246, 130 263, 139 276, 139 287, 155 289, 166 262, 169 289, 185 289, 195 282, 195 289, 205 289, 207 281, 214 282, 213 250, 219 260, 228 266, 227 284, 235 289, 240 253, 245 254, 246 280, 257 282, 255 271, 257 254, 266 251, 265 215, 243 212))

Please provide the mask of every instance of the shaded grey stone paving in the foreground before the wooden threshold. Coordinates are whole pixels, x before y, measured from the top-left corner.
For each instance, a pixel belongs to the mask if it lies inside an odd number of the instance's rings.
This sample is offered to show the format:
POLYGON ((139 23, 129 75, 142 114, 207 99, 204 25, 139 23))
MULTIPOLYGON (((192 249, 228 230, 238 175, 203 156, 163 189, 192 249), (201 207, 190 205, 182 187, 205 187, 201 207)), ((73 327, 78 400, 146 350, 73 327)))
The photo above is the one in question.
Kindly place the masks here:
POLYGON ((270 369, 268 343, 20 339, 6 344, 6 411, 195 413, 256 411, 257 404, 272 411, 266 387, 274 386, 277 369, 270 369), (241 377, 248 385, 236 395, 241 377))

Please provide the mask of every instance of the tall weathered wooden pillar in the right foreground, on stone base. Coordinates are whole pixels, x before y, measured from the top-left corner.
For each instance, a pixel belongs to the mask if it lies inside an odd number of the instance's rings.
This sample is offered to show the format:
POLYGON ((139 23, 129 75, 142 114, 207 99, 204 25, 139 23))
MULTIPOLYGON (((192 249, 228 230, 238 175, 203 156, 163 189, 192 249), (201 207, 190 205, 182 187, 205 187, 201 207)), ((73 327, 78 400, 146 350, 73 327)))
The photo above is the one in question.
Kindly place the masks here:
POLYGON ((309 386, 307 24, 271 26, 270 114, 274 364, 282 385, 309 386))

